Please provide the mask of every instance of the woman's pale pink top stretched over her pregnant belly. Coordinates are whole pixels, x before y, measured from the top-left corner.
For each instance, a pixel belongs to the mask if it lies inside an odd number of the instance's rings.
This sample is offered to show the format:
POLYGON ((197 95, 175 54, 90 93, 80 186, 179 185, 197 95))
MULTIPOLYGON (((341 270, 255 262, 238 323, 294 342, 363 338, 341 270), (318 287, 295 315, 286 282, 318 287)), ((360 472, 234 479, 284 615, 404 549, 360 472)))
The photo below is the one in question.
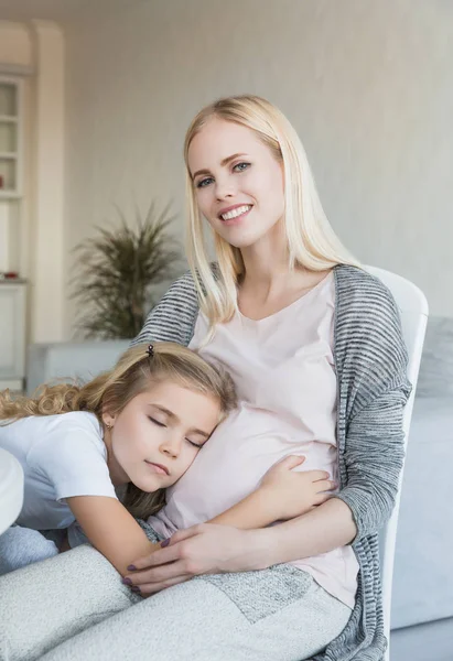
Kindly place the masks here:
MULTIPOLYGON (((334 306, 331 273, 269 317, 254 321, 239 313, 217 326, 199 353, 228 368, 240 403, 190 470, 168 489, 165 507, 149 519, 157 532, 170 537, 213 519, 254 491, 265 473, 288 455, 306 457, 301 470, 323 469, 336 479, 334 306)), ((198 314, 191 348, 201 345, 207 327, 198 314)), ((354 607, 358 564, 350 546, 292 564, 354 607)))

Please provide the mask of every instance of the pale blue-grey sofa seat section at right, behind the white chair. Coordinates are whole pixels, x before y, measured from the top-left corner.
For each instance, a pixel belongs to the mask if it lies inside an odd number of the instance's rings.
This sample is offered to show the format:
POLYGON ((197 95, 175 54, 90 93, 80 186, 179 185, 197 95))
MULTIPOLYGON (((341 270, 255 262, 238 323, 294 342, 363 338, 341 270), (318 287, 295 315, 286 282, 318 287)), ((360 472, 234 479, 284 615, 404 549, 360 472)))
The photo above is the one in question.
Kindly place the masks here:
POLYGON ((395 559, 392 628, 453 616, 453 394, 416 399, 395 559))

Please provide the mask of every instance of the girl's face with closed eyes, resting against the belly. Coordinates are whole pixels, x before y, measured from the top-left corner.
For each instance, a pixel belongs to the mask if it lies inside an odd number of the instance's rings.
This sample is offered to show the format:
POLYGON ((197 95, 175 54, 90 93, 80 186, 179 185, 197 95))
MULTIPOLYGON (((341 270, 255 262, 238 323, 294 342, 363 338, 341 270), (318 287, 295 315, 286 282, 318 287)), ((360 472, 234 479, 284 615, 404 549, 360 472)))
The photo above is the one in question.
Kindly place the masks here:
POLYGON ((214 397, 171 381, 153 384, 118 415, 103 414, 110 438, 114 483, 152 492, 173 485, 191 466, 218 423, 214 397))

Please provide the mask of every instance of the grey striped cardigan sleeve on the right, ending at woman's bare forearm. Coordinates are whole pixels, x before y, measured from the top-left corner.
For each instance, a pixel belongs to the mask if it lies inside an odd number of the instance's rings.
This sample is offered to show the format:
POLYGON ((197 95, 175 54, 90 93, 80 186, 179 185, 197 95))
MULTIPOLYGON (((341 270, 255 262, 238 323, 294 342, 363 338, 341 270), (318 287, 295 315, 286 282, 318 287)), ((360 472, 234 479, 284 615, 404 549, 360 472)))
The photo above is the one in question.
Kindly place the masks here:
POLYGON ((373 305, 369 300, 365 306, 358 302, 360 313, 352 314, 341 360, 338 431, 343 425, 344 443, 337 498, 353 512, 355 541, 376 533, 393 509, 405 458, 403 413, 411 392, 395 300, 384 285, 376 290, 373 305))

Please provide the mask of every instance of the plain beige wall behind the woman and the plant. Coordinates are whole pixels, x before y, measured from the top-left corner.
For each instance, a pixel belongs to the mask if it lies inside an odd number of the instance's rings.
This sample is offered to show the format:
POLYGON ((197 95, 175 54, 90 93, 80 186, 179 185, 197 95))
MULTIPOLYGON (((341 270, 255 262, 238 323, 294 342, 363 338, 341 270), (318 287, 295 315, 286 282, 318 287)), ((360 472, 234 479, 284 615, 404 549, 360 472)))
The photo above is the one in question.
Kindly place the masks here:
POLYGON ((150 1, 66 39, 67 248, 151 197, 181 235, 190 119, 257 93, 300 132, 349 249, 453 316, 453 2, 150 1))

